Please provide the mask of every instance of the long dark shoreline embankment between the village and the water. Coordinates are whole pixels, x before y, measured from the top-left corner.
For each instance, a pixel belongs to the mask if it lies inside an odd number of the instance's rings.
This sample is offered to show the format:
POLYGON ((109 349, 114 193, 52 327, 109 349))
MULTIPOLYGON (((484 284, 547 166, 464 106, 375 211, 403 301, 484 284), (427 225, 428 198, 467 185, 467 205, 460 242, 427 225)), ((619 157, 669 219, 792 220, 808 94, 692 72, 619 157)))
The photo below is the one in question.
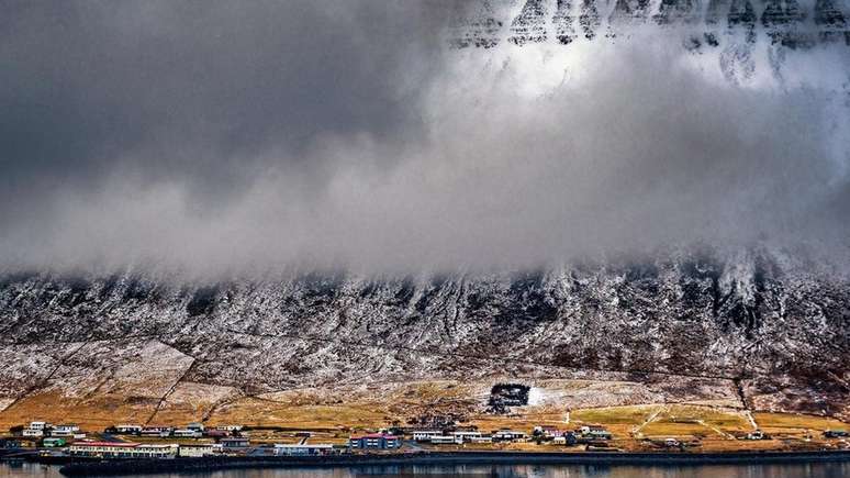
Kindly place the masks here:
POLYGON ((337 468, 414 465, 734 465, 850 460, 850 451, 735 452, 735 453, 525 453, 436 452, 388 455, 202 457, 175 459, 115 459, 72 463, 59 469, 64 476, 121 476, 161 473, 203 473, 247 468, 337 468))

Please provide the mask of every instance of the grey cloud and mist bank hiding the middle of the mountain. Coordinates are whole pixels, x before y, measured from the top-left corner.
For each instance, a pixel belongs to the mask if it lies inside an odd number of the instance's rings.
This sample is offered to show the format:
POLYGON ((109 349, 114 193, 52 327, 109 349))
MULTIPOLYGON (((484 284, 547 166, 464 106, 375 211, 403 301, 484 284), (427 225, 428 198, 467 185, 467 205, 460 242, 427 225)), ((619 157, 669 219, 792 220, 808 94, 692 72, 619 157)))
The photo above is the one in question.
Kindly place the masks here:
POLYGON ((1 4, 3 267, 848 245, 842 45, 740 80, 658 29, 454 51, 449 1, 1 4))

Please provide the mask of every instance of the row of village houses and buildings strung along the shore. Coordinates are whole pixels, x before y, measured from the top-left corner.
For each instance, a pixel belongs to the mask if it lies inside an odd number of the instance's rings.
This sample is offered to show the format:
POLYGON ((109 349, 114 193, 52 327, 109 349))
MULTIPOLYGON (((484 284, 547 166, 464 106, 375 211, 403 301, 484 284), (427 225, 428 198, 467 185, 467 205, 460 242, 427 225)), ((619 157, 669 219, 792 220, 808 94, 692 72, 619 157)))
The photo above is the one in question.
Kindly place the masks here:
MULTIPOLYGON (((317 440, 309 431, 279 431, 276 443, 268 430, 249 429, 230 424, 208 427, 202 423, 182 426, 116 424, 103 431, 82 431, 76 424, 51 424, 33 421, 15 426, 8 436, 0 438, 5 455, 53 458, 144 458, 168 459, 205 456, 321 456, 334 454, 398 453, 402 451, 485 451, 562 449, 612 453, 624 452, 616 446, 614 435, 600 425, 582 425, 575 429, 558 429, 538 425, 533 430, 502 429, 490 432, 469 426, 449 426, 441 430, 389 427, 351 434, 344 441, 317 440), (256 436, 256 438, 255 438, 256 436)), ((737 437, 745 442, 770 438, 761 431, 737 437)), ((817 442, 834 442, 841 448, 850 448, 850 433, 845 430, 826 430, 817 442)), ((814 438, 812 438, 814 440, 814 438)), ((685 453, 698 447, 698 441, 681 441, 674 437, 646 438, 645 445, 667 452, 685 453)))

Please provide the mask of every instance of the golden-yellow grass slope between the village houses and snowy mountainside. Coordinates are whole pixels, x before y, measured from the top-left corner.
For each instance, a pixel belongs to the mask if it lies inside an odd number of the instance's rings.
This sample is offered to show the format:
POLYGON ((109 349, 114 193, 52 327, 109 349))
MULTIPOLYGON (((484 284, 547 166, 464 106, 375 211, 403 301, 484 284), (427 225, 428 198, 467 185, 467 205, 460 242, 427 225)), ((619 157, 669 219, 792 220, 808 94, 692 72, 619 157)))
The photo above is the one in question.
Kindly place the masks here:
MULTIPOLYGON (((77 423, 89 432, 100 432, 116 423, 182 426, 203 421, 208 426, 243 424, 255 427, 250 431, 255 443, 298 443, 302 440, 299 432, 310 431, 314 443, 343 444, 350 434, 409 425, 411 420, 422 415, 454 414, 461 418, 460 424, 477 426, 484 433, 512 429, 530 434, 536 425, 573 430, 595 424, 612 432, 615 440, 611 445, 617 448, 652 449, 657 446, 653 443, 676 437, 697 444, 700 449, 718 452, 796 449, 816 446, 820 442, 829 445, 823 441, 824 430, 850 430, 850 425, 835 419, 756 412, 752 415, 756 425, 773 440, 741 441, 738 438, 752 431, 753 425, 745 411, 725 404, 644 403, 577 408, 577 393, 626 387, 620 382, 612 386, 589 380, 547 380, 545 383, 550 387, 550 392, 545 400, 532 405, 513 407, 507 414, 493 414, 486 409, 491 383, 433 380, 347 385, 248 397, 230 387, 181 382, 164 400, 124 397, 114 392, 64 397, 48 389, 18 400, 0 412, 0 430, 33 420, 77 423), (814 438, 814 442, 807 442, 807 437, 814 438)), ((440 446, 440 449, 450 447, 440 446)), ((468 444, 466 448, 568 449, 533 443, 468 444)))

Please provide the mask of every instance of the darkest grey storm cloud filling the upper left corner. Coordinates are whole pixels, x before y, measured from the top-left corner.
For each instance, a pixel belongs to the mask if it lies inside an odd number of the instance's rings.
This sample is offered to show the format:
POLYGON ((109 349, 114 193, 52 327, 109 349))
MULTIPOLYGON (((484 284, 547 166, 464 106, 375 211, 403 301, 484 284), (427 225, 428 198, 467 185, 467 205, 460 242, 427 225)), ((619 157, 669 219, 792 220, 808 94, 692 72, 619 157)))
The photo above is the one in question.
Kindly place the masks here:
POLYGON ((214 202, 258 162, 297 162, 318 134, 394 134, 417 121, 416 90, 400 85, 429 75, 446 11, 435 7, 5 3, 0 218, 31 212, 13 200, 37 203, 115 170, 186 181, 214 202))

